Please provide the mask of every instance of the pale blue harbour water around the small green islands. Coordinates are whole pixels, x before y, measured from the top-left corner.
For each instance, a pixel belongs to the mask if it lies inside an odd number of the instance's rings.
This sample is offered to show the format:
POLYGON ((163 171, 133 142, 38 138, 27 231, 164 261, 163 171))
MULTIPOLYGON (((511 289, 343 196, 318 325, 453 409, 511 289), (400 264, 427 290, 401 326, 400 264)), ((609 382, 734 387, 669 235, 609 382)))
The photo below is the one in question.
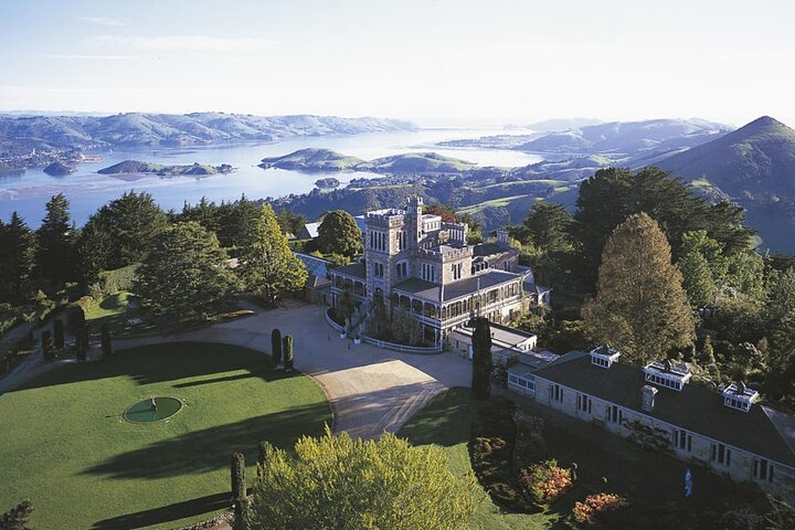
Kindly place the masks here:
MULTIPOLYGON (((475 138, 496 134, 527 134, 528 130, 435 128, 414 131, 371 132, 350 136, 292 138, 273 144, 235 144, 220 147, 140 148, 117 149, 98 152, 100 162, 81 163, 75 173, 51 177, 42 169, 29 169, 23 173, 0 173, 0 218, 8 220, 18 211, 31 226, 38 226, 44 216, 44 204, 50 198, 63 192, 71 202, 72 219, 85 223, 96 210, 125 191, 147 191, 163 210, 181 210, 186 201, 197 203, 202 197, 211 201, 234 201, 245 193, 250 199, 283 197, 306 193, 315 188, 315 181, 326 174, 264 170, 257 167, 262 158, 282 156, 308 147, 328 148, 343 155, 365 160, 401 152, 433 150, 441 155, 460 158, 483 166, 519 167, 541 160, 536 155, 519 151, 489 149, 439 149, 433 145, 456 138, 475 138), (229 174, 209 177, 161 178, 146 176, 138 180, 125 180, 119 176, 98 174, 97 170, 123 160, 142 160, 165 165, 190 165, 193 162, 219 166, 231 163, 237 170, 229 174)), ((373 173, 335 173, 343 183, 352 178, 373 173)), ((124 176, 121 176, 124 177, 124 176)))

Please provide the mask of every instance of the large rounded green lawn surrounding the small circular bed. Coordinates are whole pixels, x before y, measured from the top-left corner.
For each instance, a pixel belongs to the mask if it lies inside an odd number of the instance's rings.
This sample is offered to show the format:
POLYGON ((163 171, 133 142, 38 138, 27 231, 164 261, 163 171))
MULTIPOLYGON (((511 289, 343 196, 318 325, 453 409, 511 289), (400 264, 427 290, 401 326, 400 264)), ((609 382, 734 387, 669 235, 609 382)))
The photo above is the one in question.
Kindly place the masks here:
POLYGON ((264 372, 265 361, 225 344, 157 344, 0 395, 0 511, 30 498, 31 526, 46 530, 176 528, 225 509, 233 452, 252 477, 259 441, 287 448, 330 423, 309 378, 264 372), (160 423, 121 420, 151 395, 184 405, 160 423))

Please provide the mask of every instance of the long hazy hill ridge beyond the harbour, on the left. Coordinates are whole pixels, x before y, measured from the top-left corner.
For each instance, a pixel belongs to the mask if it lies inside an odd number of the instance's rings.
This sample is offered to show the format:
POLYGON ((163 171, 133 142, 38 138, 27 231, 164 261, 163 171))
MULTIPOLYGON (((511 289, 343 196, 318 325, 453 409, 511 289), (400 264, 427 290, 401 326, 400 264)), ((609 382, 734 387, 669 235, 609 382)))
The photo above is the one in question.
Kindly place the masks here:
MULTIPOLYGON (((406 121, 336 116, 252 116, 223 113, 113 116, 0 116, 0 150, 71 149, 117 145, 205 145, 272 141, 299 136, 405 130, 406 121)), ((2 152, 0 152, 0 156, 2 152)))

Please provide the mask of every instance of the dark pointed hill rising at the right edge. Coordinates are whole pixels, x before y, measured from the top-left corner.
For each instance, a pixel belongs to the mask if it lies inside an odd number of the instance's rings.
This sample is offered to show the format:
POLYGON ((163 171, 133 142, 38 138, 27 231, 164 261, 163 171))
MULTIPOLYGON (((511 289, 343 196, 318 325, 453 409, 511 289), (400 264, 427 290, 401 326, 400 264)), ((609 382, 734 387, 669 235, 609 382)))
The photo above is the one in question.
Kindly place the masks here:
POLYGON ((795 253, 795 130, 763 116, 657 165, 731 197, 765 246, 795 253))

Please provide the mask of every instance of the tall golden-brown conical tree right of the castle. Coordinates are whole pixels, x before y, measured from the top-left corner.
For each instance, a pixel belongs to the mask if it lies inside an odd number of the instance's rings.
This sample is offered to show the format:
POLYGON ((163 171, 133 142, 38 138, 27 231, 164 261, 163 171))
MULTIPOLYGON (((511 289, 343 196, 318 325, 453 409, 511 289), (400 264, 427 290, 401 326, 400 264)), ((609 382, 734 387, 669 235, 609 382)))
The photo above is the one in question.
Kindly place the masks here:
POLYGON ((670 245, 645 213, 630 215, 605 244, 597 295, 583 306, 592 340, 611 343, 624 360, 645 364, 692 343, 695 318, 671 265, 670 245))

